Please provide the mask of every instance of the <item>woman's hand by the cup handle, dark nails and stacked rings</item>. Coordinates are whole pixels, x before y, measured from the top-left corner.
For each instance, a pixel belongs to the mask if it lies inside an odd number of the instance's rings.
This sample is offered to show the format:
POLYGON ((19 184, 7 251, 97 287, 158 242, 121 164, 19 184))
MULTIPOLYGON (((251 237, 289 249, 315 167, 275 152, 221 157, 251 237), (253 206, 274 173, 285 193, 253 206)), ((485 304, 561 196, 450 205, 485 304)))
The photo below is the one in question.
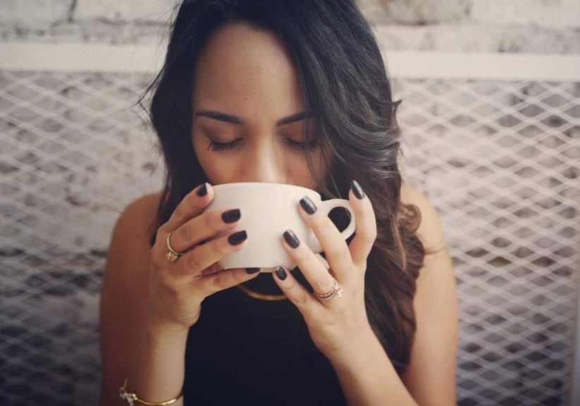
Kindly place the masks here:
POLYGON ((356 181, 352 181, 349 202, 357 221, 356 235, 350 245, 340 235, 340 231, 328 216, 316 210, 314 203, 304 197, 300 201, 300 216, 307 226, 314 231, 325 253, 330 269, 326 269, 322 257, 314 254, 306 245, 298 241, 293 233, 284 233, 282 244, 290 257, 294 259, 308 283, 319 295, 333 289, 334 279, 344 289, 342 297, 320 300, 304 288, 292 273, 280 269, 285 274, 282 280, 273 276, 288 299, 296 305, 304 316, 311 339, 326 357, 340 357, 340 354, 352 349, 357 338, 366 338, 372 333, 364 305, 364 273, 374 240, 376 240, 376 219, 369 197, 364 195, 356 181), (354 189, 360 191, 358 196, 354 189), (314 212, 309 214, 309 207, 314 212), (292 237, 296 238, 292 244, 292 237), (292 246, 295 246, 293 248, 292 246))

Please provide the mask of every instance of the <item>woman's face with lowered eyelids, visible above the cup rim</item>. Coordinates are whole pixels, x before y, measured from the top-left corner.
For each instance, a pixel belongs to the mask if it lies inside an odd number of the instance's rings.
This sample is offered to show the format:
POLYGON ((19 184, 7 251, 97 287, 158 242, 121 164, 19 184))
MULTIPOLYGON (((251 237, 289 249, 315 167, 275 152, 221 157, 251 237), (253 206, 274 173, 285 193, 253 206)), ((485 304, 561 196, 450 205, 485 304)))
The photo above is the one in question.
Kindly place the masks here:
MULTIPOLYGON (((245 24, 223 27, 197 61, 192 142, 209 183, 288 183, 314 189, 302 144, 316 119, 302 103, 297 70, 283 42, 245 24), (215 143, 230 144, 218 149, 215 143)), ((324 175, 321 148, 311 150, 324 175)))

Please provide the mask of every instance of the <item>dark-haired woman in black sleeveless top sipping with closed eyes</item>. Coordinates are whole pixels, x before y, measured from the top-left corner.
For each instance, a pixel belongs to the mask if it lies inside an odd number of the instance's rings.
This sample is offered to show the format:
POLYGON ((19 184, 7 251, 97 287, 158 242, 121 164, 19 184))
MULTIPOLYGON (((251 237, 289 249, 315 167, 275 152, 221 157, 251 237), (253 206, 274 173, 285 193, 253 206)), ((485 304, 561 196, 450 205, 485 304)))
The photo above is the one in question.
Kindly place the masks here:
POLYGON ((450 257, 402 183, 397 103, 354 1, 184 1, 149 90, 168 173, 113 230, 101 405, 455 405, 450 257), (328 270, 291 233, 295 269, 220 269, 247 235, 211 237, 244 214, 202 210, 233 182, 350 199, 357 231, 341 240, 345 214, 304 201, 328 270))

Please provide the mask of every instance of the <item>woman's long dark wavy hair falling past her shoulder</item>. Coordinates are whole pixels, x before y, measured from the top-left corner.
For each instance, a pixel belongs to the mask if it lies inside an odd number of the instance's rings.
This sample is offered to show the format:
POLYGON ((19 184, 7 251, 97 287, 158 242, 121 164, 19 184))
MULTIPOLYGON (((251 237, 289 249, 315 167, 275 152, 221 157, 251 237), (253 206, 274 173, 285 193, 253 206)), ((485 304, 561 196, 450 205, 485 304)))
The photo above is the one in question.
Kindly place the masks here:
MULTIPOLYGON (((329 170, 321 178, 313 170, 311 152, 304 151, 316 190, 323 199, 348 199, 350 181, 356 179, 374 206, 378 236, 367 259, 366 310, 401 375, 416 329, 412 300, 425 252, 416 235, 420 211, 400 202, 395 120, 400 101, 392 99, 369 23, 354 0, 185 0, 176 9, 163 68, 139 101, 152 93, 149 116, 166 164, 150 245, 183 197, 206 181, 191 142, 194 70, 206 40, 233 23, 276 33, 296 64, 319 142, 332 152, 331 160, 324 158, 329 170)), ((333 210, 331 219, 339 229, 349 221, 342 210, 333 210)))

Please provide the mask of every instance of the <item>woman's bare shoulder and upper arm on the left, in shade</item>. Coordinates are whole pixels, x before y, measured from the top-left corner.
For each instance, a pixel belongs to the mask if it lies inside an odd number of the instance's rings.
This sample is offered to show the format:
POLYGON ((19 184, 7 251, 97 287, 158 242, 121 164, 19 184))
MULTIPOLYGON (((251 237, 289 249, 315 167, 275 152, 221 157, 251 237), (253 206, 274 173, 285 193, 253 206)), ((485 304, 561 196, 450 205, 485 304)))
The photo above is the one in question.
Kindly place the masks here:
POLYGON ((111 235, 101 288, 101 405, 116 404, 132 352, 147 319, 149 224, 160 193, 139 197, 118 217, 111 235))

